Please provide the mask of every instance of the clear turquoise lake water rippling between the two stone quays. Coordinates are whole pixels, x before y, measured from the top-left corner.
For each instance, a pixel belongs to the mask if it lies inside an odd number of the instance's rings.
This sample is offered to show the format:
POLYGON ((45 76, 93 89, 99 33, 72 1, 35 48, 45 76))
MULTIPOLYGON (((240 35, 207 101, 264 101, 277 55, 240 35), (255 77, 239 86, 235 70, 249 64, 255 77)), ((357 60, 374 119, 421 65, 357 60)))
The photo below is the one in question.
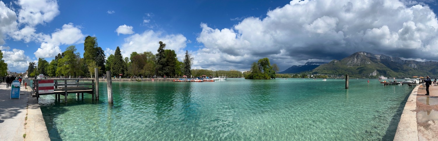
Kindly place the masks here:
POLYGON ((113 82, 39 103, 57 140, 392 140, 413 87, 377 79, 113 82))

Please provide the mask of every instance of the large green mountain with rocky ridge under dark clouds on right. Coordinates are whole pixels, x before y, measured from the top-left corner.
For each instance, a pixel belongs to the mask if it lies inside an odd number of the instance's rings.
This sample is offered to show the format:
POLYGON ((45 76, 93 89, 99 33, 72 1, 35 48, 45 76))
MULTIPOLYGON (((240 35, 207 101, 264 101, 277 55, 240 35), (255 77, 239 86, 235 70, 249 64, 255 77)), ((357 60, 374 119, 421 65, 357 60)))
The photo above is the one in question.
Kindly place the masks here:
POLYGON ((377 78, 437 76, 438 62, 418 62, 402 60, 398 57, 374 55, 368 52, 356 52, 342 60, 333 60, 312 70, 313 74, 349 74, 353 77, 377 78))

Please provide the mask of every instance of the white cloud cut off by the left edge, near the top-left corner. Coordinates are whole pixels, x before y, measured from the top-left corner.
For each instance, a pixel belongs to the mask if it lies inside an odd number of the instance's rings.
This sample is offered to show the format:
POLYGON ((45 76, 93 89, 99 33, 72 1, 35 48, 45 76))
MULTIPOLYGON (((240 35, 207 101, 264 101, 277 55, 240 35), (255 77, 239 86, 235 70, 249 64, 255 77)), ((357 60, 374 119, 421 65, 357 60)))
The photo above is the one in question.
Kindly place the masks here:
POLYGON ((5 44, 6 34, 18 29, 17 14, 0 1, 0 45, 5 44))

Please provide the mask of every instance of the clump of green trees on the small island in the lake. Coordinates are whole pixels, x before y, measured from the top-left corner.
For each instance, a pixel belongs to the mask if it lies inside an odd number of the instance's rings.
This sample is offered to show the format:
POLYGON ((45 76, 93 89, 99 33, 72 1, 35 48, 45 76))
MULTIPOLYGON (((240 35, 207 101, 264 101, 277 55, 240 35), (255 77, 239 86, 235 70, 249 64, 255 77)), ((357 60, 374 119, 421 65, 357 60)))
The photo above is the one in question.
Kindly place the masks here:
POLYGON ((268 58, 262 58, 257 63, 251 65, 251 74, 245 76, 245 79, 275 79, 274 68, 271 66, 268 58))

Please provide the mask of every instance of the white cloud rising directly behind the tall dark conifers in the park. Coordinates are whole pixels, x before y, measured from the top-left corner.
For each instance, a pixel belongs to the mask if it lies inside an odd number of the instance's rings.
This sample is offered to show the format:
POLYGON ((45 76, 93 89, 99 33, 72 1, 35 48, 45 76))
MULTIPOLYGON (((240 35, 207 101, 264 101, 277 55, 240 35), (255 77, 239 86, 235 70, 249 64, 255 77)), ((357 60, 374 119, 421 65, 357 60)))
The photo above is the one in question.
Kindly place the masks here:
POLYGON ((152 30, 145 31, 141 34, 133 34, 125 38, 125 43, 120 47, 120 51, 124 57, 128 57, 131 52, 152 52, 157 53, 159 47, 158 42, 162 41, 166 44, 165 49, 174 50, 177 57, 184 56, 187 38, 182 34, 162 35, 162 32, 152 30))

